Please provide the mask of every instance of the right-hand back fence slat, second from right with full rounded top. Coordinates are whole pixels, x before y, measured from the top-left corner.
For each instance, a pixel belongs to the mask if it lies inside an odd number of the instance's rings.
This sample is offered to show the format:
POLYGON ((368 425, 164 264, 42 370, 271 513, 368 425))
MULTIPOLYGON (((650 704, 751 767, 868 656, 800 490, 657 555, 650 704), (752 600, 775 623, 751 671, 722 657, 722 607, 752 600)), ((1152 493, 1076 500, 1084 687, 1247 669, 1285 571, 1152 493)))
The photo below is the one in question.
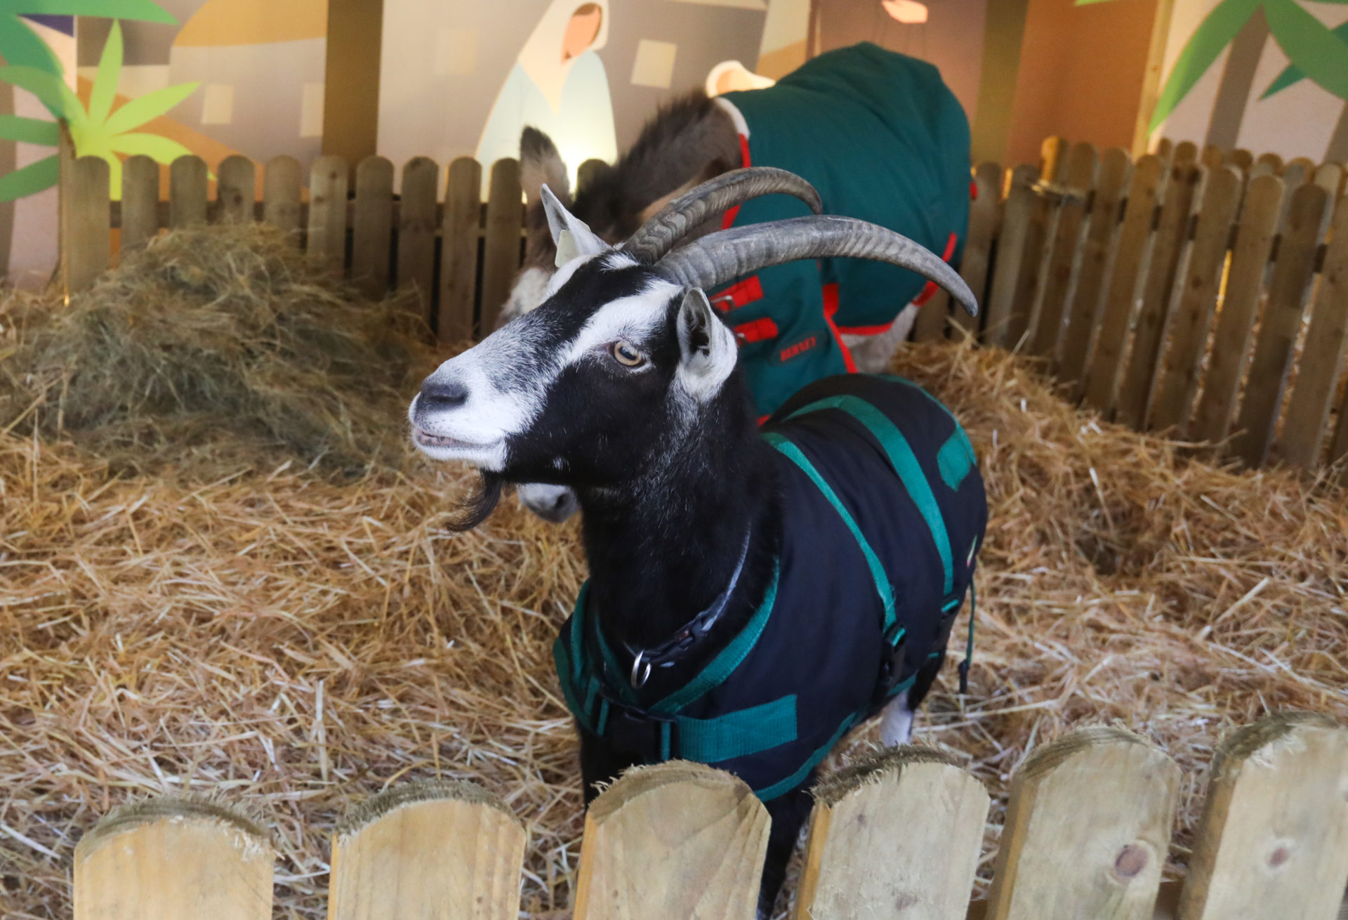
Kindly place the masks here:
POLYGON ((1184 432, 1190 440, 1216 444, 1227 437, 1231 428, 1231 415, 1250 355, 1250 337, 1264 290, 1268 255, 1283 212, 1282 198, 1282 179, 1277 175, 1264 174, 1250 179, 1231 254, 1227 293, 1208 357, 1202 397, 1184 432))

